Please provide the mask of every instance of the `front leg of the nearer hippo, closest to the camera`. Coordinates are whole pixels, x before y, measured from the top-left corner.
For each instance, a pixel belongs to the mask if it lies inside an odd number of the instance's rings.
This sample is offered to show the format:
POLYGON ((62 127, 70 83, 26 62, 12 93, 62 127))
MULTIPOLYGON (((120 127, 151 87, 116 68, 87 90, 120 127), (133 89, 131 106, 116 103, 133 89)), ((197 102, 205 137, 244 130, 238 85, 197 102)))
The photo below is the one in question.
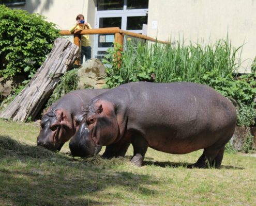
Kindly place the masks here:
POLYGON ((142 166, 148 143, 142 136, 136 136, 131 138, 131 144, 133 146, 131 162, 137 166, 142 166))

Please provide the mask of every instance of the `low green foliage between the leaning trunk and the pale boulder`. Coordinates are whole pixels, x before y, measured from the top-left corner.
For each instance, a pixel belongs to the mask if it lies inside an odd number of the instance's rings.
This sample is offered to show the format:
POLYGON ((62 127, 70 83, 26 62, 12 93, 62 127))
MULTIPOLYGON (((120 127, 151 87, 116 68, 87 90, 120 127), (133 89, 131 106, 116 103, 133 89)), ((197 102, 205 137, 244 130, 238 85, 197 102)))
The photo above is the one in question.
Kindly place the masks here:
POLYGON ((57 87, 49 98, 46 107, 50 107, 55 101, 61 98, 64 94, 77 90, 78 88, 78 70, 74 69, 66 72, 58 82, 57 87))

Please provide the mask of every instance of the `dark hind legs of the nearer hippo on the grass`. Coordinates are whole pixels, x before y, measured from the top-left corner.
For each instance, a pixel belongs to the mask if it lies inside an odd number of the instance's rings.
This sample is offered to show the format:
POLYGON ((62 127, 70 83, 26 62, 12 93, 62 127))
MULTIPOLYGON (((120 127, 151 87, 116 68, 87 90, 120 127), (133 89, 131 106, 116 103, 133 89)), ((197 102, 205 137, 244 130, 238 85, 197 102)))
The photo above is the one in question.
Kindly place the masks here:
POLYGON ((224 147, 220 149, 205 148, 203 155, 198 159, 198 161, 189 165, 188 168, 205 168, 208 166, 218 168, 221 165, 223 153, 224 147))

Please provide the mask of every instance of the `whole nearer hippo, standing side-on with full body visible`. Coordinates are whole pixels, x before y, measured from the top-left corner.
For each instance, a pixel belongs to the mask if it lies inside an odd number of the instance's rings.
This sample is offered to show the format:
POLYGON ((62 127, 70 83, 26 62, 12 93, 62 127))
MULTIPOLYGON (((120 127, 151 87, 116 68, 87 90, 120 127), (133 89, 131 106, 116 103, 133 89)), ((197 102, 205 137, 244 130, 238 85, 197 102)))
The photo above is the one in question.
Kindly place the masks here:
POLYGON ((138 166, 148 147, 172 154, 203 149, 189 167, 218 168, 235 125, 231 101, 207 85, 131 82, 89 101, 70 149, 93 155, 96 145, 106 145, 103 157, 111 158, 124 156, 132 144, 138 166))

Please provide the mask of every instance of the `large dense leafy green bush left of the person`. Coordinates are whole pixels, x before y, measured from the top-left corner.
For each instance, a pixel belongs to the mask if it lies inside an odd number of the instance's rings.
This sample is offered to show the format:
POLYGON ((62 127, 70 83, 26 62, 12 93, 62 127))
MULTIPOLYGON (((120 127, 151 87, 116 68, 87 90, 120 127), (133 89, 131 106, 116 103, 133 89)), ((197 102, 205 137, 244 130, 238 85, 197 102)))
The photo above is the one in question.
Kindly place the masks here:
POLYGON ((0 76, 25 73, 31 78, 59 37, 55 24, 44 16, 0 5, 0 56, 5 58, 0 76))

